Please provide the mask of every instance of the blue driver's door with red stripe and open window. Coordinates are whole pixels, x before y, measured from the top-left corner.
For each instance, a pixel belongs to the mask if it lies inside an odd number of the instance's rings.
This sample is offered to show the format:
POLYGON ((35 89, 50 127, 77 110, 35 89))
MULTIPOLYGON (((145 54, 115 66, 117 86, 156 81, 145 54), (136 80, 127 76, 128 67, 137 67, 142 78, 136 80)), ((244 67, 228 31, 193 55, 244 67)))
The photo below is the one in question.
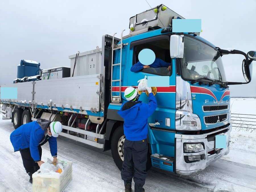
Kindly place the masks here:
MULTIPOLYGON (((156 61, 156 60, 155 60, 156 61)), ((156 66, 156 64, 154 64, 156 66)), ((155 95, 158 107, 154 114, 148 118, 148 123, 151 128, 173 129, 175 130, 175 84, 176 84, 176 72, 175 72, 175 60, 170 57, 170 36, 162 35, 156 37, 150 37, 139 41, 131 42, 129 50, 129 64, 128 69, 128 85, 138 86, 137 81, 143 79, 145 76, 167 76, 169 79, 169 86, 164 87, 161 84, 157 86, 157 93, 155 95), (139 59, 138 55, 144 48, 154 51, 156 58, 161 59, 168 63, 168 67, 150 67, 142 69, 138 72, 131 72, 131 67, 136 64, 139 59), (166 124, 166 118, 170 118, 170 124, 166 124)), ((145 91, 141 94, 140 99, 144 103, 148 103, 148 96, 145 91)))

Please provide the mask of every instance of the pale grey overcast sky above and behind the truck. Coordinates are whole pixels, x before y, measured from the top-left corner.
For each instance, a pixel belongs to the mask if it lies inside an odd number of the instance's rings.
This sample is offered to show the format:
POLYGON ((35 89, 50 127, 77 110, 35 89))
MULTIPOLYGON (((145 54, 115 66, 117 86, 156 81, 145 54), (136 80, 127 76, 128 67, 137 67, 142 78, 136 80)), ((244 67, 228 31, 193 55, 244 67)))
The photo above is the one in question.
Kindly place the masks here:
MULTIPOLYGON (((256 0, 148 0, 161 3, 184 18, 202 19, 201 37, 220 48, 245 53, 256 50, 256 0)), ((69 55, 101 47, 102 35, 129 33, 129 18, 150 9, 145 0, 129 1, 7 1, 0 0, 0 85, 17 76, 21 59, 41 63, 41 69, 70 66, 69 55)), ((228 81, 242 81, 243 57, 223 56, 228 81)), ((230 85, 231 96, 256 97, 253 80, 230 85)))

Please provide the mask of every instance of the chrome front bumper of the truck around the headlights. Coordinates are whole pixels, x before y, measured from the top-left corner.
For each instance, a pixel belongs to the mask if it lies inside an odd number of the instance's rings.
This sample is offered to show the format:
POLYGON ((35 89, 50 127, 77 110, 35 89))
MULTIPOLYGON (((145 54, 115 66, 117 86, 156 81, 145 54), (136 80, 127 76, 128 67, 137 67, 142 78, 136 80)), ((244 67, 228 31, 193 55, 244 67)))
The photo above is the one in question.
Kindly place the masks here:
POLYGON ((217 134, 221 130, 205 133, 202 135, 181 135, 175 134, 176 138, 176 173, 180 175, 191 175, 197 171, 205 169, 211 162, 214 162, 224 155, 229 153, 229 142, 230 142, 230 132, 232 130, 232 125, 222 129, 227 130, 224 133, 217 134), (218 154, 214 153, 212 155, 207 154, 210 151, 215 150, 215 139, 214 141, 208 141, 207 136, 215 137, 216 135, 226 135, 226 148, 221 149, 218 154), (184 153, 184 143, 204 143, 204 150, 198 153, 184 153), (185 162, 186 156, 202 155, 205 158, 197 162, 187 163, 185 162))

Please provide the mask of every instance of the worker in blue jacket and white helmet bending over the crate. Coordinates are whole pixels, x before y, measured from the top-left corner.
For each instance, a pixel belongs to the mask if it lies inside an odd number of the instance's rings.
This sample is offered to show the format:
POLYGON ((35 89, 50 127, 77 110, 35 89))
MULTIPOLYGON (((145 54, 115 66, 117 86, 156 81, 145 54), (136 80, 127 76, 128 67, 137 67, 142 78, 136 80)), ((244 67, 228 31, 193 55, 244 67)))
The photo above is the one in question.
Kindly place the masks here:
POLYGON ((37 121, 24 124, 11 133, 10 140, 14 152, 20 151, 23 166, 30 176, 30 183, 32 183, 32 174, 44 163, 41 160, 41 146, 47 141, 53 156, 53 163, 57 162, 57 137, 61 131, 60 122, 38 118, 37 121))

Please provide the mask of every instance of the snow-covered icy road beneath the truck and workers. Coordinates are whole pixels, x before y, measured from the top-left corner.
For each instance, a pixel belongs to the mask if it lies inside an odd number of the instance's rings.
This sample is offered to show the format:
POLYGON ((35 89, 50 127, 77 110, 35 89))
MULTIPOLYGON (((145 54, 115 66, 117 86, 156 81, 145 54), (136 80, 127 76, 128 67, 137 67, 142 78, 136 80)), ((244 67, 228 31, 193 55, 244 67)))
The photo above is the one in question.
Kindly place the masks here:
MULTIPOLYGON (((14 130, 11 120, 2 120, 0 116, 0 130, 0 191, 32 191, 20 153, 13 152, 9 140, 14 130)), ((256 134, 254 136, 256 138, 256 134)), ((58 158, 73 161, 73 179, 64 191, 123 191, 120 171, 110 151, 102 152, 61 136, 57 141, 58 158)), ((42 160, 46 161, 51 157, 49 145, 45 144, 42 148, 42 160)), ((236 149, 233 151, 236 152, 236 149)), ((240 156, 236 160, 233 160, 234 155, 229 158, 232 161, 220 159, 191 176, 151 168, 144 188, 146 191, 256 191, 256 166, 238 163, 240 156)))

